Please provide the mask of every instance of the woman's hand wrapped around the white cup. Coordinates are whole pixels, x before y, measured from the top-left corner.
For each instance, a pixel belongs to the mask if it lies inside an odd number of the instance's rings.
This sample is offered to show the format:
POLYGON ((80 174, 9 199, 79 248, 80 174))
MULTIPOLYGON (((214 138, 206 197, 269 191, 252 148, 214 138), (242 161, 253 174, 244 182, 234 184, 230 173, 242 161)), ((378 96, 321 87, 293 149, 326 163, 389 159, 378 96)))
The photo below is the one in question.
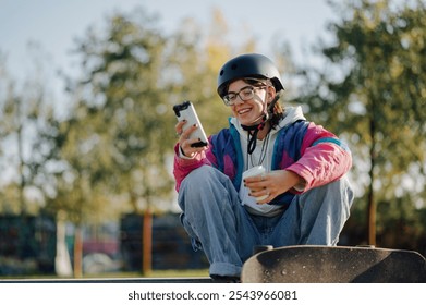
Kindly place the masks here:
POLYGON ((258 204, 267 204, 301 183, 304 183, 304 180, 299 174, 287 170, 276 170, 244 180, 244 186, 251 190, 251 196, 268 196, 257 202, 258 204))

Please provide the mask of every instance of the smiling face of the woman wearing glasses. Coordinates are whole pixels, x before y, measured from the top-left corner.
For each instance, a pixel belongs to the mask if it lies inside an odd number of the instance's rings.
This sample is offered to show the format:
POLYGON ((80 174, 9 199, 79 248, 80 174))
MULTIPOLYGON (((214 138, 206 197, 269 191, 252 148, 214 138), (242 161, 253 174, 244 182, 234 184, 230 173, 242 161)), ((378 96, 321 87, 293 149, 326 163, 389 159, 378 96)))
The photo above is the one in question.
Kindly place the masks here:
MULTIPOLYGON (((233 115, 240 121, 242 125, 255 125, 264 115, 264 102, 267 99, 267 102, 270 101, 270 98, 267 96, 267 89, 270 86, 264 87, 254 87, 243 80, 238 80, 229 85, 228 94, 234 93, 238 94, 241 89, 252 87, 254 88, 253 98, 243 101, 240 96, 236 96, 234 105, 231 106, 233 115)), ((244 96, 244 90, 241 91, 241 96, 244 96)))

